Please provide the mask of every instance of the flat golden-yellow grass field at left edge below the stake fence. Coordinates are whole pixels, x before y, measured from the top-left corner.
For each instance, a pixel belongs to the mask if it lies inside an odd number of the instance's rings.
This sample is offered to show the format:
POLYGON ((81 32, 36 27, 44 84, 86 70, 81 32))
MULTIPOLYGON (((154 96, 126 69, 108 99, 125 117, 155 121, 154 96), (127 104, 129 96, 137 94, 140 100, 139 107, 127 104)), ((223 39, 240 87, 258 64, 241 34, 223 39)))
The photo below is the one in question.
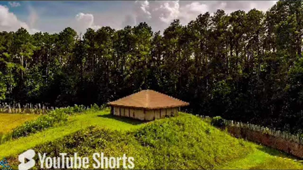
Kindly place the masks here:
POLYGON ((0 133, 7 133, 22 123, 39 116, 37 114, 0 113, 0 133))

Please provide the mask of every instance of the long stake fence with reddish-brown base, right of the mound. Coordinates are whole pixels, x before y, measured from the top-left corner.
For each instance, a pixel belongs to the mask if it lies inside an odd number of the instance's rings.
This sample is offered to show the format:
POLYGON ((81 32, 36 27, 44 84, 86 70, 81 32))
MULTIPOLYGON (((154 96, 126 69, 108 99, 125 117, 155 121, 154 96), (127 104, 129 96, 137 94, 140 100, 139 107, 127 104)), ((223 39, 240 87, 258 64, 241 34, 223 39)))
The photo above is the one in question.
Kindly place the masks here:
MULTIPOLYGON (((196 115, 201 117, 206 122, 211 122, 209 116, 196 115)), ((223 129, 235 137, 247 139, 266 145, 297 157, 303 158, 303 134, 291 134, 287 131, 270 129, 268 127, 254 125, 250 123, 237 122, 233 120, 225 120, 223 129)))

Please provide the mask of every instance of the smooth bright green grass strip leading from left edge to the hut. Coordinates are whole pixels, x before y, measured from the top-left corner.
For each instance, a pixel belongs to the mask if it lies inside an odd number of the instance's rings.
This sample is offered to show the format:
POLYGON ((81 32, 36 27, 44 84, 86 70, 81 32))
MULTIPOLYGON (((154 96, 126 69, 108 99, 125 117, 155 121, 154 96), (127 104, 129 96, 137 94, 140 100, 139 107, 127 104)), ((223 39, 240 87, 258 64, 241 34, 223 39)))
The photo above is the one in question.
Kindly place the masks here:
POLYGON ((38 144, 62 138, 88 126, 107 127, 112 130, 125 131, 142 126, 142 121, 125 117, 115 117, 110 115, 108 110, 70 116, 68 122, 64 122, 56 127, 0 145, 0 159, 10 155, 16 155, 38 144))

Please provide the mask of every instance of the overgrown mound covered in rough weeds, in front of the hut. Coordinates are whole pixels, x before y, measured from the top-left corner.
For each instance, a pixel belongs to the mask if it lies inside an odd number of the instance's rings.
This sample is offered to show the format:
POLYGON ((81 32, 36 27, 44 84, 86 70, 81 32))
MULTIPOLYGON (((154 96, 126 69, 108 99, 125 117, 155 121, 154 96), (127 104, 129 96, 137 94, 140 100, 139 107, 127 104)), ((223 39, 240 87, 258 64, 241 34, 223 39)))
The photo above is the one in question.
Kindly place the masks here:
MULTIPOLYGON (((188 114, 156 120, 128 132, 90 126, 33 149, 51 157, 77 152, 90 157, 90 163, 95 152, 115 157, 125 153, 134 157, 135 169, 209 169, 244 158, 254 150, 249 142, 188 114)), ((38 162, 38 156, 35 159, 38 162)))

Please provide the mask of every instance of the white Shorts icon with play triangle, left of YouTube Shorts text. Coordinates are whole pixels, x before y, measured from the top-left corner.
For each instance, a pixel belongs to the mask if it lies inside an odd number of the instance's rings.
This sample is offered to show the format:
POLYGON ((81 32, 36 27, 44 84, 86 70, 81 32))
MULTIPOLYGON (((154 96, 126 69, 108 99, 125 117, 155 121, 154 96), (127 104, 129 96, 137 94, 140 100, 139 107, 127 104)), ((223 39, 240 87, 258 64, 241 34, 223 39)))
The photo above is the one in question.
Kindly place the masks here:
POLYGON ((32 149, 29 149, 29 150, 23 152, 22 154, 20 154, 18 159, 19 159, 19 162, 21 162, 21 163, 18 165, 18 169, 19 170, 28 170, 28 169, 32 168, 33 166, 35 166, 35 160, 33 159, 35 154, 36 154, 35 151, 32 149), (26 159, 27 159, 27 161, 26 161, 26 159))

